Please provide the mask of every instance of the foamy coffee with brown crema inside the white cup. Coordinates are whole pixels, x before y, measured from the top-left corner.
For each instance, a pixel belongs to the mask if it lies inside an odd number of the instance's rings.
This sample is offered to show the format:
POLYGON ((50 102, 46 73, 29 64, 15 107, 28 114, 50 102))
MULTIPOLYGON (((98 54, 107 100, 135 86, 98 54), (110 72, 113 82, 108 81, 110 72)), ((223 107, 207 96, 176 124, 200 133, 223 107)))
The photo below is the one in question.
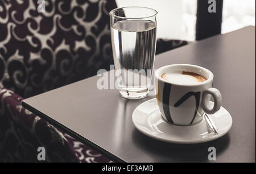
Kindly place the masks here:
POLYGON ((194 72, 183 71, 182 73, 170 72, 163 73, 161 77, 164 80, 168 80, 170 82, 174 82, 176 84, 197 84, 207 80, 204 76, 194 72))

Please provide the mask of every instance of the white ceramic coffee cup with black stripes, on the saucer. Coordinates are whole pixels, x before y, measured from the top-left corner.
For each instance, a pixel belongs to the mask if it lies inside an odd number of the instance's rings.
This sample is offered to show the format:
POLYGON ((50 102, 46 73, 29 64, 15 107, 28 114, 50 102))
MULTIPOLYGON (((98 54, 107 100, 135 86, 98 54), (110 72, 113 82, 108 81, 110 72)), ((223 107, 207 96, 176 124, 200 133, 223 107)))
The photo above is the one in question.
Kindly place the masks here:
POLYGON ((189 64, 173 64, 159 68, 155 72, 156 99, 162 117, 168 123, 190 126, 199 123, 204 113, 214 114, 221 106, 221 93, 212 88, 213 73, 208 69, 189 64), (193 72, 207 80, 197 84, 176 84, 171 79, 162 78, 168 72, 193 72), (214 105, 210 105, 213 97, 214 105))

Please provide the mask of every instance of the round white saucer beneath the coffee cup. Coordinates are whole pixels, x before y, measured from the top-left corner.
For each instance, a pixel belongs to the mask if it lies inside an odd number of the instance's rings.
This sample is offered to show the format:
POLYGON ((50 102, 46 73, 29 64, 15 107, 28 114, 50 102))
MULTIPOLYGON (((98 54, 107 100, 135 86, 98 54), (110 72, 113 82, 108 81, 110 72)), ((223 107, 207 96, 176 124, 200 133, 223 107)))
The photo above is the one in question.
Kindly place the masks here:
MULTIPOLYGON (((213 102, 211 104, 213 105, 213 102)), ((178 144, 209 142, 220 138, 230 130, 232 117, 224 107, 209 117, 217 127, 218 134, 214 134, 209 129, 205 118, 192 126, 176 126, 167 123, 160 114, 156 98, 143 102, 136 107, 132 115, 135 127, 143 134, 164 142, 178 144)))

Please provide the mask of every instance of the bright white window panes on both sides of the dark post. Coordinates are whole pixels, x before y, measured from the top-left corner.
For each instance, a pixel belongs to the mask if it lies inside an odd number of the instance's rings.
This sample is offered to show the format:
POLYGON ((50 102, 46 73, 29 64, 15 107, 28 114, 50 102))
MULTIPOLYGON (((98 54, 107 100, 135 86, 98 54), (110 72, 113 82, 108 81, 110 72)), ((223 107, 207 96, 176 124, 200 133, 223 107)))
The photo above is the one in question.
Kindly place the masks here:
MULTIPOLYGON (((116 0, 118 7, 145 6, 158 11, 158 38, 193 41, 197 0, 116 0)), ((222 33, 255 26, 255 0, 224 0, 222 33)))

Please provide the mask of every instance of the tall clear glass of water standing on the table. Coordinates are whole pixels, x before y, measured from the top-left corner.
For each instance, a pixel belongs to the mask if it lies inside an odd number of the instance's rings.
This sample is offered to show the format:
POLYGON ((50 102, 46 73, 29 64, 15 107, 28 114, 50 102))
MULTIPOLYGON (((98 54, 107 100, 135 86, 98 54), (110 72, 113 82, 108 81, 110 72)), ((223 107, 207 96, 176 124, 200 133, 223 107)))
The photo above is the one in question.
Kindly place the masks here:
POLYGON ((147 97, 156 47, 157 11, 147 7, 122 7, 110 11, 115 75, 121 78, 124 98, 147 97))

